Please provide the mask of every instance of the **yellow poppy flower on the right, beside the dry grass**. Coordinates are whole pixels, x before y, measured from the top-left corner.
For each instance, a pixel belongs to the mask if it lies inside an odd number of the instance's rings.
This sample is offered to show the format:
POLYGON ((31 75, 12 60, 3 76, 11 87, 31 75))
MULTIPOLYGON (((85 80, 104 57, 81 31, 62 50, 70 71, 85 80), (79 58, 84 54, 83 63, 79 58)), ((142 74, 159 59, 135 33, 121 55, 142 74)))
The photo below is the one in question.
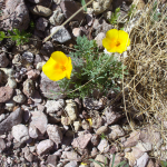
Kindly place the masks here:
POLYGON ((129 35, 124 30, 111 29, 107 31, 106 38, 102 40, 102 46, 109 52, 122 53, 130 45, 129 35))

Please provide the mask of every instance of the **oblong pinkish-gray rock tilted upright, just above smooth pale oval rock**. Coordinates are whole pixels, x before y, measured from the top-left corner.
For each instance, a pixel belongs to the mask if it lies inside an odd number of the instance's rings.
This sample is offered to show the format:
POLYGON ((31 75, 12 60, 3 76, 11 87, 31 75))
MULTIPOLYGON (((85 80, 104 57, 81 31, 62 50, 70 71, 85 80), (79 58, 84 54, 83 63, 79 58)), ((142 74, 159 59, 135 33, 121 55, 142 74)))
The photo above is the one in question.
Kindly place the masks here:
POLYGON ((62 132, 61 132, 60 128, 57 125, 48 125, 47 132, 48 132, 48 136, 49 136, 50 140, 56 143, 57 145, 61 144, 62 132))

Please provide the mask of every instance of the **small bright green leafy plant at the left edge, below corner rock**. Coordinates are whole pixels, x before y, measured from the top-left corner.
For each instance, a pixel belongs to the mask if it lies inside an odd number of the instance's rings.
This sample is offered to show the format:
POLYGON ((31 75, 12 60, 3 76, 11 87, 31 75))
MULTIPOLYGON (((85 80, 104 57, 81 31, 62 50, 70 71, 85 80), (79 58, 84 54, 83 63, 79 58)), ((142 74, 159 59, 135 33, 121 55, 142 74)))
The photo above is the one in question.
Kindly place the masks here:
POLYGON ((12 31, 8 30, 9 36, 6 36, 4 31, 0 31, 0 40, 4 38, 11 38, 12 41, 16 41, 16 45, 23 45, 29 41, 31 33, 27 33, 26 31, 19 31, 18 29, 13 29, 12 31))

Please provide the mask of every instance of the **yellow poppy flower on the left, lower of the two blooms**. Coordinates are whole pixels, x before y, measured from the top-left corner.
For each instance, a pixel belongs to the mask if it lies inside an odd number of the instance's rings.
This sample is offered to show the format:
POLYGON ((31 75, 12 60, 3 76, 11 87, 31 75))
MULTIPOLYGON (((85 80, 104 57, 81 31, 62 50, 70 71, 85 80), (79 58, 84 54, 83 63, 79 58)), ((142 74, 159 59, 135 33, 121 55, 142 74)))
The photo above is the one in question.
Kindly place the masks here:
POLYGON ((65 77, 70 79, 72 71, 71 58, 61 51, 55 51, 50 59, 42 66, 42 71, 53 81, 63 79, 65 77))

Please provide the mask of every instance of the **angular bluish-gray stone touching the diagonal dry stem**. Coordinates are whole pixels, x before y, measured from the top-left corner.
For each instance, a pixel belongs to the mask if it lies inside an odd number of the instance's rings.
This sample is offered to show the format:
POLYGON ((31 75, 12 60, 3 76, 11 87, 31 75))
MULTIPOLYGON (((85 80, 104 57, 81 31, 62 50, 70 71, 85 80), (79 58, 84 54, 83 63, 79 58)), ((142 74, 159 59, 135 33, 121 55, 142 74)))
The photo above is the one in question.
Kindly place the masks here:
MULTIPOLYGON (((51 29, 51 33, 55 32, 57 29, 59 29, 60 26, 53 27, 51 29)), ((62 27, 61 29, 59 29, 53 36, 52 36, 52 40, 53 41, 58 41, 60 43, 65 43, 67 41, 69 41, 71 39, 70 33, 68 32, 68 30, 62 27)))

